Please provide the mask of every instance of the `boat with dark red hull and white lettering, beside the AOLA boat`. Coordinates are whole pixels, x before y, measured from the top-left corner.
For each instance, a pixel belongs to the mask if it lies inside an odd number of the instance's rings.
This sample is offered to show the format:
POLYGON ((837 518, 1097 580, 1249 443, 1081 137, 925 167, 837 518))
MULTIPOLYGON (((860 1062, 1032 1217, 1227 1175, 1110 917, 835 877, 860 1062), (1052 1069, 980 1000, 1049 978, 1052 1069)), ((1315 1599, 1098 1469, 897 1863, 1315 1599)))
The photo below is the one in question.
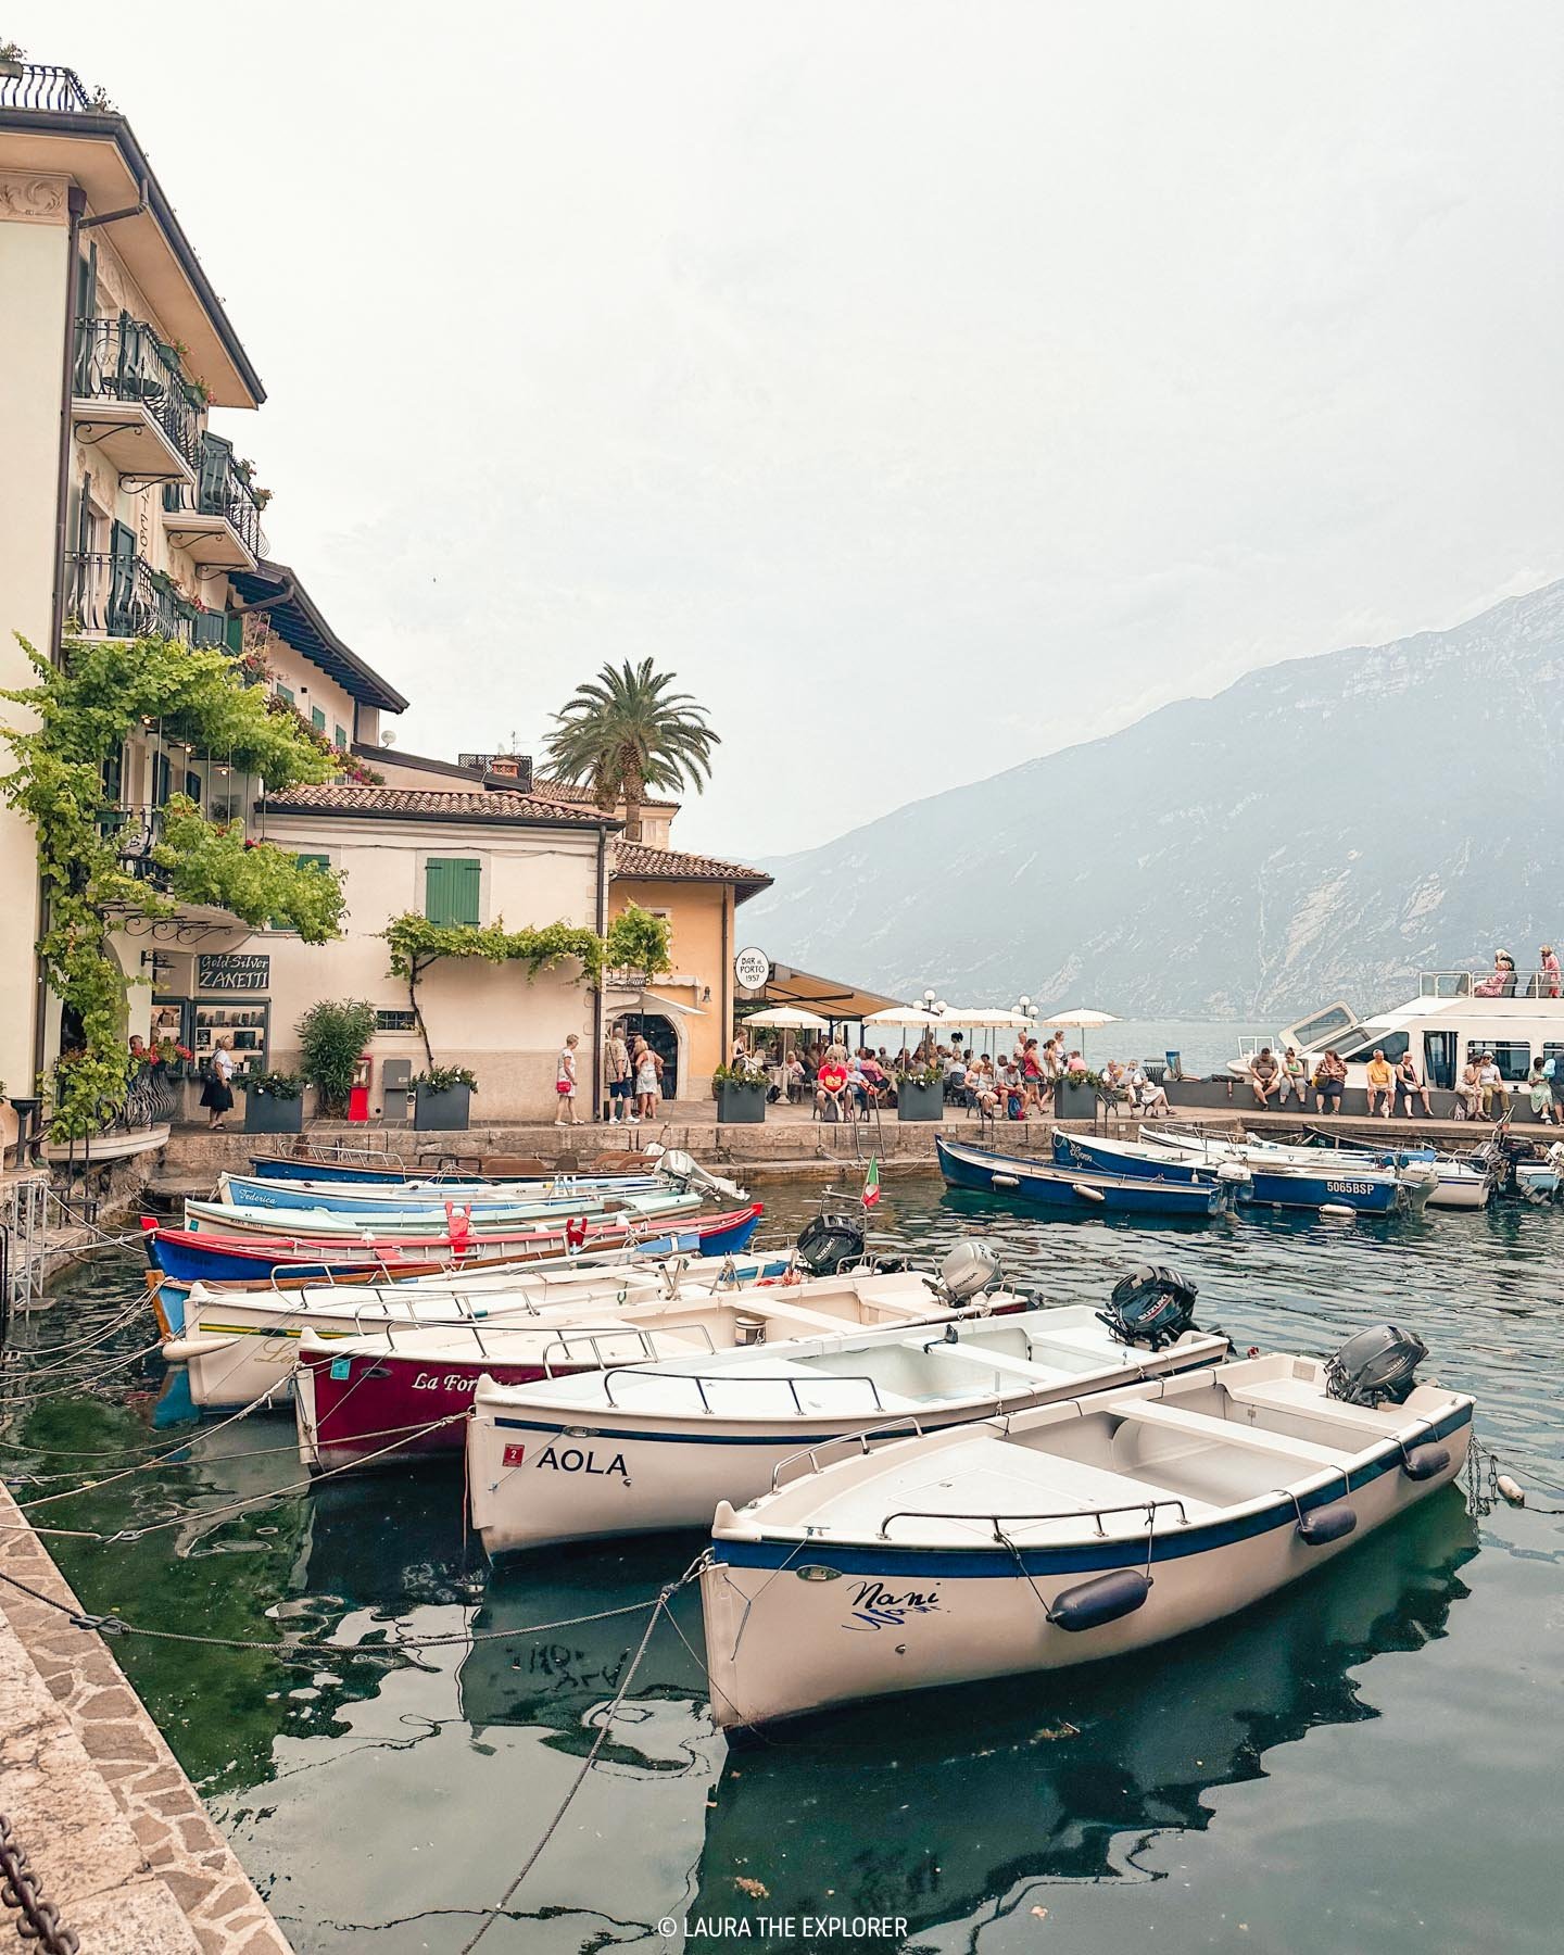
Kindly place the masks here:
POLYGON ((960 1308, 933 1296, 915 1271, 764 1286, 760 1267, 723 1265, 708 1275, 686 1267, 673 1296, 585 1318, 551 1310, 549 1324, 387 1324, 348 1339, 305 1325, 295 1372, 299 1458, 323 1470, 459 1451, 479 1378, 530 1386, 661 1359, 688 1357, 700 1367, 717 1353, 760 1347, 770 1361, 800 1339, 938 1324, 960 1308))

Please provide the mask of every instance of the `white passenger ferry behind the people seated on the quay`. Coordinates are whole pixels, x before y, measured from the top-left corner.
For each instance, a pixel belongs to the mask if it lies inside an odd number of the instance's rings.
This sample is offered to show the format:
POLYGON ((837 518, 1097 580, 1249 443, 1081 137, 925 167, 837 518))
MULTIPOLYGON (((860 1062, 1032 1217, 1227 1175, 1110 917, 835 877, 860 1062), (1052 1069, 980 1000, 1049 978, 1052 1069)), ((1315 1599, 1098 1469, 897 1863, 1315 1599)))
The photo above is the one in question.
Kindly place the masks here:
MULTIPOLYGON (((1374 1048, 1394 1065, 1412 1050, 1417 1071, 1431 1087, 1451 1091, 1472 1056, 1494 1054, 1494 1064, 1507 1085, 1525 1085, 1533 1060, 1558 1060, 1564 1065, 1564 999, 1552 997, 1558 983, 1548 972, 1509 972, 1503 989, 1480 995, 1494 983, 1492 974, 1423 972, 1417 997, 1392 1011, 1359 1017, 1351 1005, 1337 999, 1322 1011, 1288 1024, 1271 1040, 1281 1056, 1294 1046, 1306 1060, 1310 1075, 1325 1050, 1347 1062, 1347 1085, 1367 1085, 1367 1065, 1374 1048)), ((1228 1062, 1239 1077, 1247 1073, 1259 1040, 1243 1040, 1243 1050, 1228 1062)))

